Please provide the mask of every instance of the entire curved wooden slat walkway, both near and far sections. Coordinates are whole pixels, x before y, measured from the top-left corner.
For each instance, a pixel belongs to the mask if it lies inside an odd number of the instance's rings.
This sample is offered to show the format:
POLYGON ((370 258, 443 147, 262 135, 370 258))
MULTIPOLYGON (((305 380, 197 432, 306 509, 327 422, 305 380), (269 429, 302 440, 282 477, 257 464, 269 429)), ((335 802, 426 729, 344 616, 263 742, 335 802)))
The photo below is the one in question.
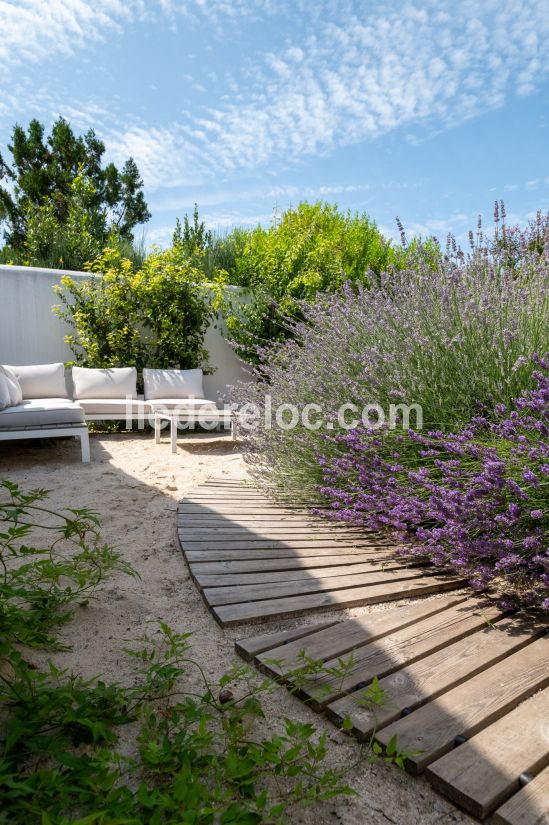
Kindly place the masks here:
POLYGON ((547 617, 504 614, 375 533, 224 480, 179 508, 193 578, 222 625, 432 594, 404 607, 239 640, 236 650, 360 740, 494 825, 549 825, 547 617), (303 664, 321 666, 304 676, 303 664), (385 694, 373 707, 373 679, 385 694))

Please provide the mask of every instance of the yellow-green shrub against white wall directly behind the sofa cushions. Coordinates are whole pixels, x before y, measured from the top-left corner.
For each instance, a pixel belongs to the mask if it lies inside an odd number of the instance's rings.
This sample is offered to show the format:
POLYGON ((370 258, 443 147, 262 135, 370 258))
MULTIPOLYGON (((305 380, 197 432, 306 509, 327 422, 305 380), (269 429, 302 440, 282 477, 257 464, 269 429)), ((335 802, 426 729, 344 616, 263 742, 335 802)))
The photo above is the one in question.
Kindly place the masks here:
POLYGON ((150 254, 140 269, 115 249, 91 266, 101 276, 66 276, 57 313, 73 327, 66 342, 88 367, 206 367, 202 346, 212 290, 177 249, 150 254))

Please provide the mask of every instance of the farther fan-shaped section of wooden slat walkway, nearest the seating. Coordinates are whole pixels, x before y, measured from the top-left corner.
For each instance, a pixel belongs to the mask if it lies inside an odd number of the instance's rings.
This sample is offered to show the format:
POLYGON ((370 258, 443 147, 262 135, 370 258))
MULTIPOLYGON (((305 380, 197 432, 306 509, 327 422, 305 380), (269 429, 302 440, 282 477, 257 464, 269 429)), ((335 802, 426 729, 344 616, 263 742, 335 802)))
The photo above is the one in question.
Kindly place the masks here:
POLYGON ((253 487, 212 481, 178 507, 189 569, 221 625, 376 604, 460 588, 386 537, 274 504, 253 487))

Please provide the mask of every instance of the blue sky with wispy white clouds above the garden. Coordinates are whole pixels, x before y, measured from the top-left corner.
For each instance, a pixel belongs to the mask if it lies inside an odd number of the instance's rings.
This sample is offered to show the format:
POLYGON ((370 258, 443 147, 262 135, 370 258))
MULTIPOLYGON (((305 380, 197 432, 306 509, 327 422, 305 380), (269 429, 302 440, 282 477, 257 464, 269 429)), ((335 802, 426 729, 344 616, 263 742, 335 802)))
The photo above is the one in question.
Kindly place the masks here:
POLYGON ((459 238, 503 198, 549 208, 548 0, 0 0, 0 151, 15 122, 132 155, 167 243, 325 199, 459 238))

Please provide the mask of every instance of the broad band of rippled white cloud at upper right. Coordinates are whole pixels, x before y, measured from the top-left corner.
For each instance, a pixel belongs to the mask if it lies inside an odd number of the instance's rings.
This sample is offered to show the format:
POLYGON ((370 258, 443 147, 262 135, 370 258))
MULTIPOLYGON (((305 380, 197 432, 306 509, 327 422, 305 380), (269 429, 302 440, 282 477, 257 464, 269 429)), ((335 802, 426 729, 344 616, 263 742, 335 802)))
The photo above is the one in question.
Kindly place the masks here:
POLYGON ((198 119, 195 145, 216 169, 298 160, 399 127, 453 126, 531 93, 549 71, 546 0, 395 2, 340 17, 269 52, 255 86, 198 119))

